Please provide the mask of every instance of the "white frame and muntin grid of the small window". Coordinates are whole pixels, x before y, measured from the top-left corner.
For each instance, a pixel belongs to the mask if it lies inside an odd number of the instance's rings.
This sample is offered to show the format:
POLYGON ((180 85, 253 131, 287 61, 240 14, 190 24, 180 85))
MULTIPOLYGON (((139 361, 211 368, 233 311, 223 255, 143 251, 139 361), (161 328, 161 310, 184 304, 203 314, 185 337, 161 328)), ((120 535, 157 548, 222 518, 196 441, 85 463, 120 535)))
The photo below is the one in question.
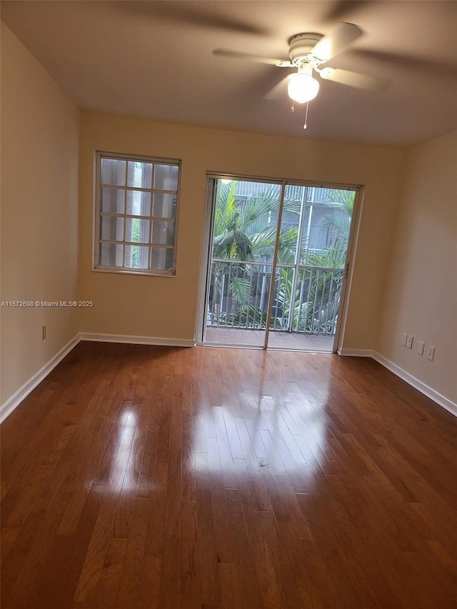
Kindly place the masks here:
MULTIPOLYGON (((153 168, 154 172, 154 168, 153 168)), ((181 160, 175 158, 158 158, 151 156, 143 156, 139 154, 124 154, 124 153, 112 153, 112 152, 104 152, 104 151, 96 151, 95 154, 95 193, 94 193, 94 234, 93 234, 93 255, 92 255, 92 270, 98 271, 101 273, 121 273, 121 274, 129 274, 129 275, 147 275, 147 276, 161 276, 161 277, 174 277, 176 276, 176 244, 177 244, 177 236, 178 236, 178 216, 179 216, 179 193, 181 186, 181 160), (152 163, 153 165, 169 165, 176 166, 178 168, 178 180, 177 180, 177 188, 176 191, 169 190, 161 190, 158 188, 154 188, 154 174, 152 177, 151 188, 141 188, 137 186, 128 186, 128 182, 124 186, 114 185, 114 184, 102 184, 101 183, 101 160, 103 158, 112 158, 116 161, 126 161, 126 171, 128 167, 128 161, 139 161, 141 163, 152 163), (149 192, 151 193, 151 207, 149 216, 139 216, 136 214, 127 214, 126 213, 126 194, 124 197, 124 213, 114 213, 114 212, 102 212, 101 211, 101 188, 115 188, 117 190, 123 190, 125 193, 128 191, 134 192, 149 192), (163 193, 163 194, 171 194, 176 196, 176 213, 175 217, 165 217, 165 216, 153 216, 153 196, 154 193, 163 193), (101 216, 111 216, 116 218, 124 218, 124 235, 123 238, 119 238, 116 240, 106 240, 101 239, 101 216), (146 242, 134 242, 134 241, 126 241, 126 221, 128 218, 139 218, 146 219, 151 222, 151 228, 149 233, 149 241, 146 242), (164 243, 154 243, 152 241, 152 223, 154 221, 159 222, 173 222, 174 223, 174 243, 173 245, 164 244, 164 243), (151 265, 151 250, 152 248, 164 248, 173 251, 173 266, 172 268, 168 268, 165 270, 160 270, 157 268, 132 268, 129 266, 107 266, 102 265, 100 262, 100 247, 101 243, 117 243, 122 246, 123 259, 124 259, 124 248, 129 245, 133 246, 144 246, 148 248, 148 263, 151 265)))

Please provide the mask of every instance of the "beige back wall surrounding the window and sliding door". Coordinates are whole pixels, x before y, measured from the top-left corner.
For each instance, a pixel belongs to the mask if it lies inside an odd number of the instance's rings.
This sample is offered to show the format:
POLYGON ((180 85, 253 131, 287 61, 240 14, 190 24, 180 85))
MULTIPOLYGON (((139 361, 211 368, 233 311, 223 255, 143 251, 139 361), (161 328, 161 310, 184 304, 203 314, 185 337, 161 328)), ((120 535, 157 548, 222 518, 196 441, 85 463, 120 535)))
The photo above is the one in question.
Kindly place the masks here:
POLYGON ((345 348, 374 346, 404 151, 83 113, 80 139, 80 331, 194 337, 206 171, 366 185, 345 348), (182 159, 174 278, 91 271, 94 151, 182 159))

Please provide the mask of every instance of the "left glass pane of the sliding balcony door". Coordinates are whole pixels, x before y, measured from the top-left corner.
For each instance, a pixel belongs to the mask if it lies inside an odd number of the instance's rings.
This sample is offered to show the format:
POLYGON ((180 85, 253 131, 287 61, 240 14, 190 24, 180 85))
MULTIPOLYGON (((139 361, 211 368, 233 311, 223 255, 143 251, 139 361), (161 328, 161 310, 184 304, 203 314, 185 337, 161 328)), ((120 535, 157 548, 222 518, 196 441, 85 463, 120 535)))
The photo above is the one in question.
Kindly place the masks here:
POLYGON ((204 343, 262 348, 281 185, 214 181, 204 343))

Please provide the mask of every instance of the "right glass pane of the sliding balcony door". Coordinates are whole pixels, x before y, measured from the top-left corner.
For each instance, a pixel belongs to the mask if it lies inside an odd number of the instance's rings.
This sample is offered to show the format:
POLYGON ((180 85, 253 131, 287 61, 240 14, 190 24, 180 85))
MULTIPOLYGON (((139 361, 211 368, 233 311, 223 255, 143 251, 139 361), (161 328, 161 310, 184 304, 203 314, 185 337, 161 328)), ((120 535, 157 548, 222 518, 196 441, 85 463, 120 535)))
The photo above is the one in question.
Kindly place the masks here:
POLYGON ((301 199, 301 213, 296 224, 290 212, 281 220, 268 347, 333 351, 355 194, 286 186, 284 211, 295 197, 301 199))

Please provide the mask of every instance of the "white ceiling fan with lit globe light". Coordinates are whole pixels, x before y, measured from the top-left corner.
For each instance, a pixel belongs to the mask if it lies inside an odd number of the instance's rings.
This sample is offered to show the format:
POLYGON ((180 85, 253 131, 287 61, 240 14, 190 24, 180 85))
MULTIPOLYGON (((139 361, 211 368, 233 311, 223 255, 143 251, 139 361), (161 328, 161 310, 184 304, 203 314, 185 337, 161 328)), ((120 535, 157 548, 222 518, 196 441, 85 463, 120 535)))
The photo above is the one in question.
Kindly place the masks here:
POLYGON ((289 40, 289 59, 274 59, 228 49, 214 49, 213 54, 256 61, 278 68, 296 69, 295 73, 288 74, 276 84, 266 98, 276 99, 282 94, 283 88, 287 84, 288 96, 293 101, 303 104, 305 101, 311 101, 318 94, 319 81, 313 78, 313 72, 316 72, 321 79, 353 86, 357 89, 377 89, 383 84, 381 79, 366 74, 329 66, 321 67, 322 64, 326 64, 327 61, 345 51, 361 34, 362 31, 358 26, 348 23, 338 24, 327 36, 313 32, 296 34, 289 40))

